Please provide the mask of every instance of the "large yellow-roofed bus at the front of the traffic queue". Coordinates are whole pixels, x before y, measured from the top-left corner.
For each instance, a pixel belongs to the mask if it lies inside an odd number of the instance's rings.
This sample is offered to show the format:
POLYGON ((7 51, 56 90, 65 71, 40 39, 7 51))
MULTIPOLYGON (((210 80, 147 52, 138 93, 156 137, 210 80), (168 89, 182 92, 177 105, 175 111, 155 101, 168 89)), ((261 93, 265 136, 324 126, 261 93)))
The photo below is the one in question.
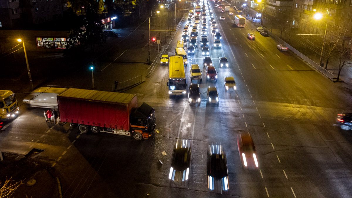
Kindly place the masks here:
POLYGON ((184 95, 187 92, 186 73, 181 56, 170 57, 168 87, 169 95, 184 95))

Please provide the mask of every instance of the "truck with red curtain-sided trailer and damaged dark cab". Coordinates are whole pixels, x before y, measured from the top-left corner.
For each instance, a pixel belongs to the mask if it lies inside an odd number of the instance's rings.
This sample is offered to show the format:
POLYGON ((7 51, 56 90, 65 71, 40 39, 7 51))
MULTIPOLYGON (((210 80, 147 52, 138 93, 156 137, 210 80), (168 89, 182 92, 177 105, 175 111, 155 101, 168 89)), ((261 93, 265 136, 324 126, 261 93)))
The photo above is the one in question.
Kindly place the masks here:
POLYGON ((82 133, 133 136, 148 139, 154 134, 155 109, 144 103, 137 107, 134 94, 69 88, 57 95, 61 122, 69 122, 82 133))

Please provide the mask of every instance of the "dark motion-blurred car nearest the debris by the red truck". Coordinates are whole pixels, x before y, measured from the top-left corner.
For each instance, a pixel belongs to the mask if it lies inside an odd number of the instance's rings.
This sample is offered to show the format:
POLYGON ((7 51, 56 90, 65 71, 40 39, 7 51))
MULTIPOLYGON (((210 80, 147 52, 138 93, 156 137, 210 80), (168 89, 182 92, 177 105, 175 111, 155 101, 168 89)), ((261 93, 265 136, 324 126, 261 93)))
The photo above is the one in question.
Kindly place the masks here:
POLYGON ((173 181, 186 181, 191 167, 191 142, 187 139, 177 139, 172 153, 169 179, 173 181))

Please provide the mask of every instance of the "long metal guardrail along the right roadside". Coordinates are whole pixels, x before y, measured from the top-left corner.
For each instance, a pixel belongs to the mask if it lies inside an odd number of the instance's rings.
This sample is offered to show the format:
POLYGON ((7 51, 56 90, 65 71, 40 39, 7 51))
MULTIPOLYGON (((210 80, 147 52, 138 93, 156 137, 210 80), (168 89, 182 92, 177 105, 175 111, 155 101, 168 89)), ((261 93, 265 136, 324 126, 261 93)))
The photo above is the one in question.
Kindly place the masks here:
MULTIPOLYGON (((263 27, 263 29, 266 29, 265 27, 263 27)), ((334 79, 334 74, 332 74, 331 72, 329 72, 328 70, 324 69, 323 67, 321 67, 318 63, 314 62, 312 59, 308 58, 307 56, 305 56, 304 54, 302 54, 300 51, 296 50, 295 48, 293 48, 291 45, 289 45, 288 43, 286 43, 285 41, 283 41, 281 38, 279 38, 278 36, 274 35, 272 32, 270 32, 268 29, 266 29, 269 32, 269 35, 272 36, 273 38, 275 38, 278 42, 285 44, 292 52, 294 52, 297 56, 299 56, 300 58, 302 58, 304 61, 306 61, 310 67, 313 67, 314 69, 318 70, 320 73, 324 74, 327 78, 329 78, 330 80, 334 79)))

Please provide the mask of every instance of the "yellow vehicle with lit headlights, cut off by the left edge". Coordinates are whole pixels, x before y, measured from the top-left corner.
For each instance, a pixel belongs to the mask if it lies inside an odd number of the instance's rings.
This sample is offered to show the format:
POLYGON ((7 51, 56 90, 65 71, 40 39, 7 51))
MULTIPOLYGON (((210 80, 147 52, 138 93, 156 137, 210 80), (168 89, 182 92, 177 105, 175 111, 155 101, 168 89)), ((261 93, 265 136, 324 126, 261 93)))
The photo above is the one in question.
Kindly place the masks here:
POLYGON ((10 90, 0 90, 0 119, 9 120, 19 114, 15 94, 10 90))

